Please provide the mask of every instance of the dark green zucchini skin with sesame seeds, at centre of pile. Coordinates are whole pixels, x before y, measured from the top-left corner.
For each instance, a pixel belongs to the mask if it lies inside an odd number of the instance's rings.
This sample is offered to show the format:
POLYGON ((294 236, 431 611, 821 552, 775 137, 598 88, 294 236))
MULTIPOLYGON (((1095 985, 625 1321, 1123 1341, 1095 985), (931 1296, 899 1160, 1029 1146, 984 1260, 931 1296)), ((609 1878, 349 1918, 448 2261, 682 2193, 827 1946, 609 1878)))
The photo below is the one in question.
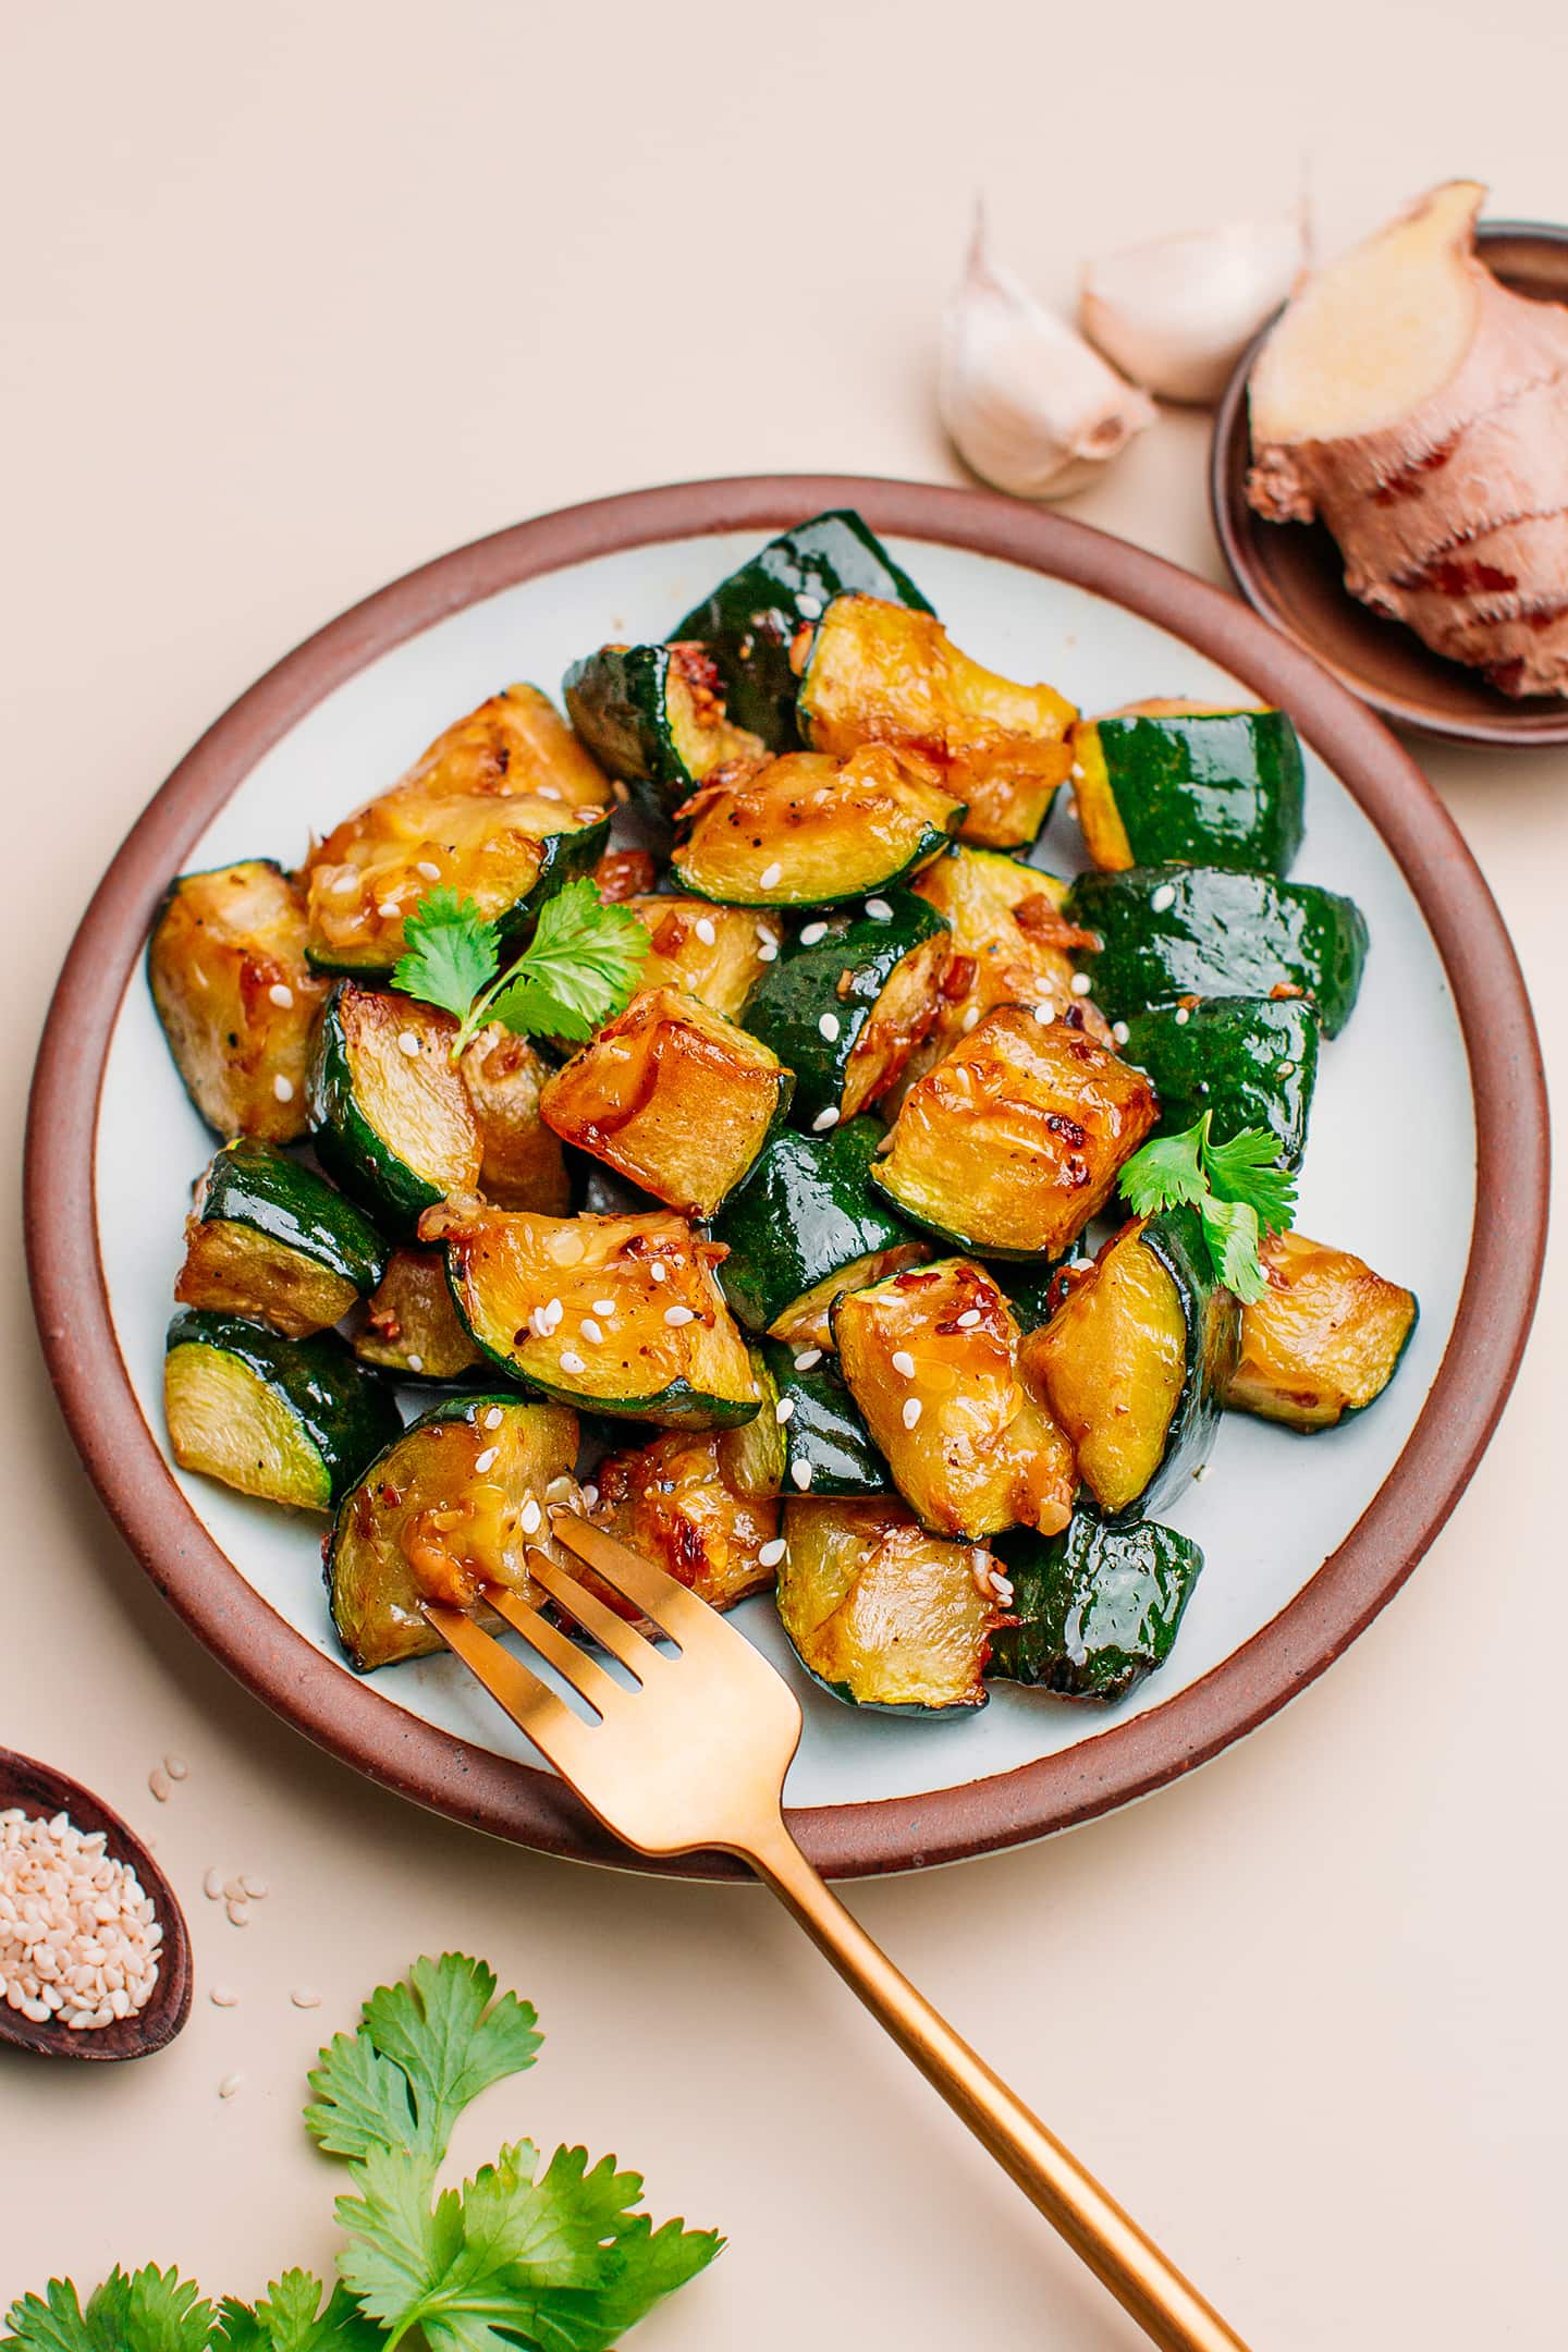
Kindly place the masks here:
POLYGON ((886 922, 853 915, 830 920, 827 936, 813 946, 802 946, 799 936, 788 941, 745 1000, 745 1028, 795 1070, 795 1120, 804 1127, 839 1108, 851 1054, 896 967, 922 941, 950 929, 947 917, 914 891, 889 889, 884 903, 891 908, 886 922), (842 988, 846 976, 849 988, 842 988), (837 1023, 832 1037, 823 1035, 823 1018, 837 1023))

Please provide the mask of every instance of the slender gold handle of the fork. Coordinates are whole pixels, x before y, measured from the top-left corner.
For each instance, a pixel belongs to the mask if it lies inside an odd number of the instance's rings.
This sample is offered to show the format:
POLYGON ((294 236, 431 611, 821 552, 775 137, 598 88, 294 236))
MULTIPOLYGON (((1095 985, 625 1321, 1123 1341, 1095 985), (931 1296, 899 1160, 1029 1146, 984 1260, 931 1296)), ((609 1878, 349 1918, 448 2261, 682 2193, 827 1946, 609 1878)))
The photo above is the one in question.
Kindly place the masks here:
POLYGON ((783 1825, 741 1858, 773 1889, 905 2058, 912 2058, 1023 2194, 1161 2352, 1246 2352, 1197 2286, 1093 2173, 1009 2091, 823 1884, 783 1825))

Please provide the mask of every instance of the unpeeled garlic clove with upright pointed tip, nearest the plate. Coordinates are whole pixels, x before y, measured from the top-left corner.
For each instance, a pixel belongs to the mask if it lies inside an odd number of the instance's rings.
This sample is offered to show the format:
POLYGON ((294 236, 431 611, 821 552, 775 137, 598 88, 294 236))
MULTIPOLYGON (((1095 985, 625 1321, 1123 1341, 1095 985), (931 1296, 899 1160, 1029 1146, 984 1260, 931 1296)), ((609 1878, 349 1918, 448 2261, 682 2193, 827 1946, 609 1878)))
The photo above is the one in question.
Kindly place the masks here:
POLYGON ((936 395, 964 463, 1016 499, 1070 496, 1154 423, 1154 405, 992 261, 980 216, 943 313, 936 395))

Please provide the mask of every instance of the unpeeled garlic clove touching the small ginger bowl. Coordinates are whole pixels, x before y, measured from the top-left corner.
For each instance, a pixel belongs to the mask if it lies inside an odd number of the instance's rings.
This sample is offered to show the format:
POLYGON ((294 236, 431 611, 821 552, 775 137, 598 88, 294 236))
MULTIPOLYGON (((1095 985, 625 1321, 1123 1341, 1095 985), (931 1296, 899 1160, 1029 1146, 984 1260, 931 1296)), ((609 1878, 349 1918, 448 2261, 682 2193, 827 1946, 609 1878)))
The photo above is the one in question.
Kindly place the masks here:
POLYGON ((1213 407, 1307 268, 1302 214, 1131 245, 1084 270, 1084 334, 1159 400, 1213 407))

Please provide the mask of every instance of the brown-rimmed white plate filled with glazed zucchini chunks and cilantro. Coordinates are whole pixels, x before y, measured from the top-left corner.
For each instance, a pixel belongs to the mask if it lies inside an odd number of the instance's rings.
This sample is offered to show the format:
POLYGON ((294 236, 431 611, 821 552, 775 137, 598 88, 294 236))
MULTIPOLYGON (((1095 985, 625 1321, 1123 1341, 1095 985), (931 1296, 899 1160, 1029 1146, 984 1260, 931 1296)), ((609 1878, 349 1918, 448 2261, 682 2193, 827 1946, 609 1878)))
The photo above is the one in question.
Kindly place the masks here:
POLYGON ((115 1519, 303 1731, 625 1860, 423 1618, 583 1510, 795 1679, 865 1872, 1354 1639, 1544 1167, 1502 922, 1352 696, 1056 515, 778 477, 463 548, 216 722, 61 976, 28 1242, 115 1519))

